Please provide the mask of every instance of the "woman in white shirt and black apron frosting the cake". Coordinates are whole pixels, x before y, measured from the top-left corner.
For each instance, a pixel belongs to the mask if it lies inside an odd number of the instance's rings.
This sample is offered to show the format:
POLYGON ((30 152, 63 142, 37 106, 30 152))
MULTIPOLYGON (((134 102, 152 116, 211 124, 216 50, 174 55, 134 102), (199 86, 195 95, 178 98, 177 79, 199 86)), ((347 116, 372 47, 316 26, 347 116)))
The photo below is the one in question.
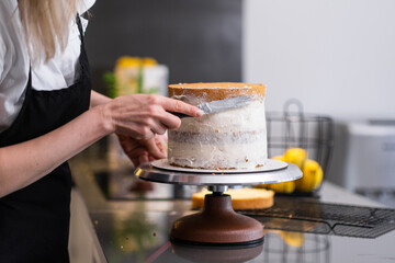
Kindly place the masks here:
POLYGON ((135 164, 165 158, 157 140, 192 105, 90 90, 78 0, 0 1, 0 262, 68 262, 67 160, 115 133, 135 164))

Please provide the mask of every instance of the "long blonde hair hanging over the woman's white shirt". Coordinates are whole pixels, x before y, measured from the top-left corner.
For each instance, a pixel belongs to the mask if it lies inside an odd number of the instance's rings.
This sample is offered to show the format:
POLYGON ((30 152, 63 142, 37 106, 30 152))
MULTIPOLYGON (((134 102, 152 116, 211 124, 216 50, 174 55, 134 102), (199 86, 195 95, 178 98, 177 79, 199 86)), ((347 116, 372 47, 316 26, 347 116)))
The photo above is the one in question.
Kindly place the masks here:
POLYGON ((19 0, 21 22, 31 60, 47 61, 64 50, 70 22, 80 0, 19 0))

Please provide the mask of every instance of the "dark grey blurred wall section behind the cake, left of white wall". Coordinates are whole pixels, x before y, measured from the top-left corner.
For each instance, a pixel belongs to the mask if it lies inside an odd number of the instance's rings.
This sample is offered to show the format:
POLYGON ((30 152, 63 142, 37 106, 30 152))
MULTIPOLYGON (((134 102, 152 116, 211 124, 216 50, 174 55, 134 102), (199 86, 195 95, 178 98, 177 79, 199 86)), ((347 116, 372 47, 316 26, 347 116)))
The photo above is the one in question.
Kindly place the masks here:
POLYGON ((241 81, 240 0, 99 0, 91 15, 87 50, 95 89, 121 56, 167 65, 170 83, 241 81))

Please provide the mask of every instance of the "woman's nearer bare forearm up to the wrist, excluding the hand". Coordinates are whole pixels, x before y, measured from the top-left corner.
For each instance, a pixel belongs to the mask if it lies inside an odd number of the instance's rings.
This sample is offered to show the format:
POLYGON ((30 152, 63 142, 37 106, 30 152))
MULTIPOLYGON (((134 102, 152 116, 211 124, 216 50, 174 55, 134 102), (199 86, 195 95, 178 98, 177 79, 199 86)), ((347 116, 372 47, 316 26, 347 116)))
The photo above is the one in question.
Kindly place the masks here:
POLYGON ((95 107, 46 135, 0 148, 0 197, 37 181, 111 132, 95 107))

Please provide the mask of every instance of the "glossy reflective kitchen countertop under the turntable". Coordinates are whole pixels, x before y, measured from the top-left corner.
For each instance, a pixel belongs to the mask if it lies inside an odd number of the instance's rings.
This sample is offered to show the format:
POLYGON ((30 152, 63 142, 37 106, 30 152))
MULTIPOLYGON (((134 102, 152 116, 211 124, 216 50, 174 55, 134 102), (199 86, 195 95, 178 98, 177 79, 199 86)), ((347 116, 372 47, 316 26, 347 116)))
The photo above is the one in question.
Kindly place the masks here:
MULTIPOLYGON (((255 248, 200 248, 170 243, 172 222, 190 209, 189 199, 109 199, 97 172, 105 158, 82 153, 70 160, 72 191, 71 262, 394 262, 395 231, 377 238, 267 229, 255 248)), ((132 178, 132 174, 131 174, 132 178)), ((319 202, 369 207, 383 205, 325 183, 319 202)))

